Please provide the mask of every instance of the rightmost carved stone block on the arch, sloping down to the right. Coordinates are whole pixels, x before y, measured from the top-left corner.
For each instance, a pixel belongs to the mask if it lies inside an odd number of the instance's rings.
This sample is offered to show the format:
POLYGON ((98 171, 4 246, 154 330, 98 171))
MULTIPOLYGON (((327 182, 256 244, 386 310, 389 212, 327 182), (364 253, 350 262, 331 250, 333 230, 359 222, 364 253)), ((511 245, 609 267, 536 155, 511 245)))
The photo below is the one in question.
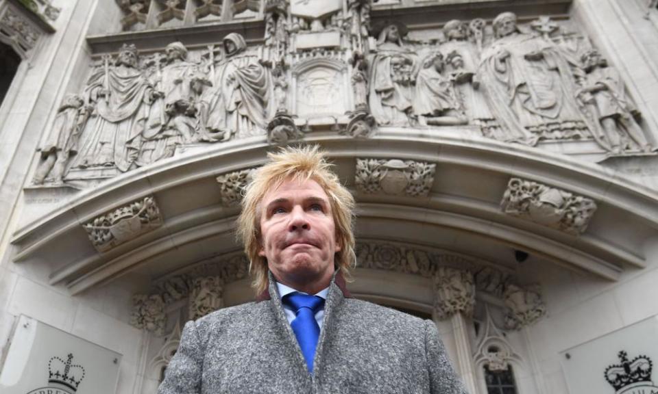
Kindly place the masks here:
POLYGON ((579 235, 587 229, 596 211, 596 202, 555 187, 512 178, 507 184, 500 207, 509 215, 579 235))

